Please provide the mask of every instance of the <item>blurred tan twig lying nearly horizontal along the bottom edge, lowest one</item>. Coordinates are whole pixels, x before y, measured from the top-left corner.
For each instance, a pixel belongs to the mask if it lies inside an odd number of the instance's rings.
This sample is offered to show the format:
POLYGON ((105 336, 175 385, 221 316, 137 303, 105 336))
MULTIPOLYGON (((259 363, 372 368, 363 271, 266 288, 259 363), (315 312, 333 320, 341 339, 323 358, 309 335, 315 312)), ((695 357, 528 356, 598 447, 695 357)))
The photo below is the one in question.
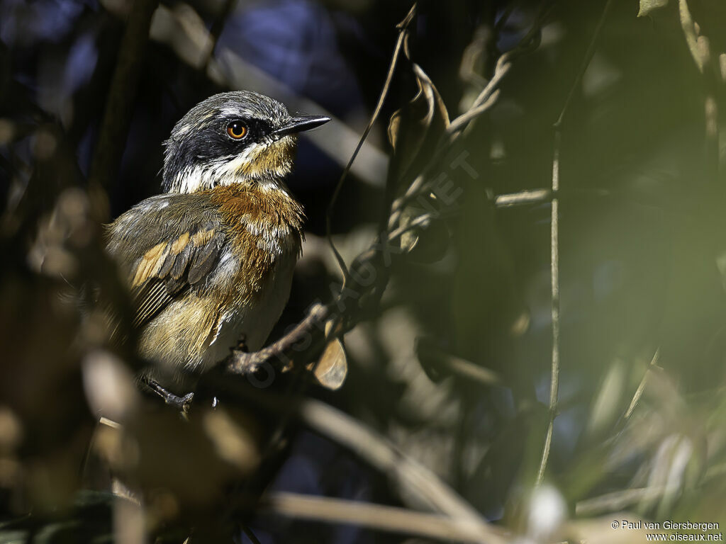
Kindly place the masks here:
POLYGON ((317 522, 351 524, 380 531, 467 543, 503 543, 492 527, 462 522, 438 514, 362 503, 356 500, 272 493, 263 506, 274 514, 317 522))

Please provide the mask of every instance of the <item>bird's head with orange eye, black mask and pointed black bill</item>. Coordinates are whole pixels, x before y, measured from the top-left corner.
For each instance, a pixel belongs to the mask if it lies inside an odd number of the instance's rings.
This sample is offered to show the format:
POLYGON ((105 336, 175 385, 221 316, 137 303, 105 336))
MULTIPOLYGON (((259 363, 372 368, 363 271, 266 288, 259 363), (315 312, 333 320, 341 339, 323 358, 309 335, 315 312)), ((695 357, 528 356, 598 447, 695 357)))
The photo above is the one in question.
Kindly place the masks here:
POLYGON ((234 183, 278 184, 293 167, 296 134, 329 120, 292 117, 277 100, 251 91, 211 96, 171 131, 163 189, 192 193, 234 183))

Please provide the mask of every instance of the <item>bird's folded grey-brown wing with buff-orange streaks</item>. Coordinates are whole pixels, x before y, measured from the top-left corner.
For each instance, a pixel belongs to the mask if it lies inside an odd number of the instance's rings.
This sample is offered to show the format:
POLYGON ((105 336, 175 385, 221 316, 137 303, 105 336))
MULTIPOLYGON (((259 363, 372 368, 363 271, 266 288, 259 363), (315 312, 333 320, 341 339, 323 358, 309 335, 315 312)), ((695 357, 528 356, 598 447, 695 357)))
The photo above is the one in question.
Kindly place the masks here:
POLYGON ((201 287, 226 242, 208 197, 146 199, 107 227, 107 247, 129 275, 134 326, 142 327, 189 289, 201 287))

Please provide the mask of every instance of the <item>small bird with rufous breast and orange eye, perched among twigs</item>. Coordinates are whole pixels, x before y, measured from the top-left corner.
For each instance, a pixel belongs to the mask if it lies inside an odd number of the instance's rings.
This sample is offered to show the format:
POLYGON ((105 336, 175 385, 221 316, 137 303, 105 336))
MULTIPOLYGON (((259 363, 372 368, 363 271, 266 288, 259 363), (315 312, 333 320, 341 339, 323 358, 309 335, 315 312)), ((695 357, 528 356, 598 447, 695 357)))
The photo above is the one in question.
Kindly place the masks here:
POLYGON ((297 133, 330 119, 293 117, 250 91, 216 94, 165 142, 163 194, 107 226, 126 273, 139 355, 171 389, 244 339, 264 345, 290 294, 303 207, 285 185, 297 133))

